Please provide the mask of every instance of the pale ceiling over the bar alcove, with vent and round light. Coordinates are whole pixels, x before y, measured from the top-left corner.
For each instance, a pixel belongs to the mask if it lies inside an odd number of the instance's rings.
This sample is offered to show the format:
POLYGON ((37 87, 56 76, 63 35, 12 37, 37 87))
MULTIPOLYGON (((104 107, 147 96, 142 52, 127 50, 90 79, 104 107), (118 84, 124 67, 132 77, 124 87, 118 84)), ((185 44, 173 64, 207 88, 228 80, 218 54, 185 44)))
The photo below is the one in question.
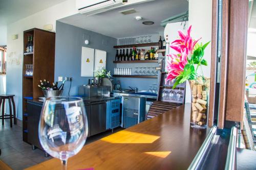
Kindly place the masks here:
POLYGON ((91 16, 75 14, 59 21, 110 37, 122 38, 163 32, 164 28, 160 26, 162 20, 187 10, 186 0, 156 0, 91 16), (119 13, 131 8, 138 12, 129 15, 119 13), (137 21, 136 16, 142 16, 144 19, 137 21), (155 24, 143 25, 142 22, 147 20, 154 21, 155 24))

